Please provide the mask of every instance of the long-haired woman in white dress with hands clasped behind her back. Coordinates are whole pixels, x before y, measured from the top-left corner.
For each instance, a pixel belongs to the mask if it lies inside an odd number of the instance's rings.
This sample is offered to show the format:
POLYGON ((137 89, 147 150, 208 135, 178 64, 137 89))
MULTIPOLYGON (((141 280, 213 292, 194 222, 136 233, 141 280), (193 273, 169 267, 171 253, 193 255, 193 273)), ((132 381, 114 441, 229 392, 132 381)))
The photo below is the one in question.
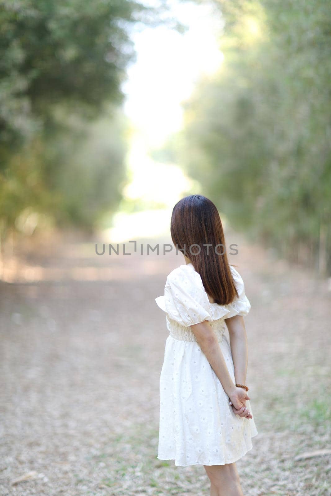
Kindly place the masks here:
POLYGON ((227 260, 222 223, 202 195, 173 208, 171 237, 185 263, 167 276, 169 336, 160 375, 157 457, 176 466, 201 464, 211 496, 243 496, 236 461, 258 434, 247 394, 247 335, 251 309, 243 280, 227 260), (225 325, 230 340, 224 335, 225 325))

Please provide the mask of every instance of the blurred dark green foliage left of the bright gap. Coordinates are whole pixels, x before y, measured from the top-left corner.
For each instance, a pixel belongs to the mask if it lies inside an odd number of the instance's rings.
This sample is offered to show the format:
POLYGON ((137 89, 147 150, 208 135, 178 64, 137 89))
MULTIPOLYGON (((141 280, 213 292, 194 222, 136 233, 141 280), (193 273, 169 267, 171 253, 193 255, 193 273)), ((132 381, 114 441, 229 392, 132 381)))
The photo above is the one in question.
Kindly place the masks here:
POLYGON ((0 239, 33 212, 92 229, 125 183, 133 0, 0 0, 0 239))

